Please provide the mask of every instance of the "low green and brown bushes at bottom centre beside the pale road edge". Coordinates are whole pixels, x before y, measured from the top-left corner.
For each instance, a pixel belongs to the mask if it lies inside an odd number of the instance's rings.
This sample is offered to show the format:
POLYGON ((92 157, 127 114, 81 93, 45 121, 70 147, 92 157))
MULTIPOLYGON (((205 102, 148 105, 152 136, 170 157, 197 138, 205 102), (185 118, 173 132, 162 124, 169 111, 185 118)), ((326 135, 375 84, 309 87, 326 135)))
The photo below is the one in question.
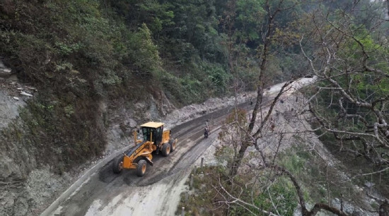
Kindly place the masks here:
MULTIPOLYGON (((216 191, 220 186, 227 189, 231 195, 238 196, 241 200, 252 203, 261 210, 277 211, 280 215, 293 215, 297 208, 295 188, 284 177, 277 178, 269 186, 263 186, 262 184, 269 183, 269 181, 262 177, 258 179, 258 184, 247 184, 254 178, 250 173, 234 178, 236 181, 231 184, 231 179, 228 179, 223 166, 198 168, 196 173, 193 187, 190 188, 191 193, 195 195, 189 196, 185 202, 185 196, 182 196, 182 203, 178 210, 185 206, 185 210, 198 215, 250 215, 248 210, 254 212, 255 215, 264 214, 248 205, 245 206, 247 209, 233 203, 228 206, 223 205, 224 199, 228 196, 223 196, 222 191, 216 191), (200 172, 204 175, 199 175, 200 172)), ((266 172, 262 173, 262 175, 266 174, 266 172)))

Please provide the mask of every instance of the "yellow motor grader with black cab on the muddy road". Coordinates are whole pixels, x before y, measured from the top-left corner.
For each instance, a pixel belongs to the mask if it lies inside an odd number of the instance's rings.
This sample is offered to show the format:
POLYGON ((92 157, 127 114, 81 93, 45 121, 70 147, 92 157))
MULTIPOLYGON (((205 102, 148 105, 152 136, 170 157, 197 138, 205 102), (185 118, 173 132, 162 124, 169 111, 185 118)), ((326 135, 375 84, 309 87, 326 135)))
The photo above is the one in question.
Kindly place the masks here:
POLYGON ((175 150, 177 139, 170 138, 170 130, 163 131, 163 123, 150 121, 142 124, 141 132, 143 140, 138 140, 137 131, 134 131, 134 148, 114 160, 114 173, 120 173, 122 169, 136 169, 137 176, 143 176, 147 164, 153 166, 153 152, 166 157, 175 150))

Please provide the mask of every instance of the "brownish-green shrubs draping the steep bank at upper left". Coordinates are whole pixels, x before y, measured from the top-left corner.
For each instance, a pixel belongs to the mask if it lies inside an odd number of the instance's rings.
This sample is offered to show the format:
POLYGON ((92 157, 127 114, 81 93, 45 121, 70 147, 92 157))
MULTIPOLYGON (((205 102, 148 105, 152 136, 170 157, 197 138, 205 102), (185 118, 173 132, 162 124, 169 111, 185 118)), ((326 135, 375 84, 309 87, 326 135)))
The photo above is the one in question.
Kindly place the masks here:
POLYGON ((98 1, 7 1, 0 11, 0 56, 39 88, 21 112, 29 131, 23 136, 42 149, 39 161, 62 172, 100 155, 97 95, 119 88, 131 72, 120 62, 130 31, 98 1))

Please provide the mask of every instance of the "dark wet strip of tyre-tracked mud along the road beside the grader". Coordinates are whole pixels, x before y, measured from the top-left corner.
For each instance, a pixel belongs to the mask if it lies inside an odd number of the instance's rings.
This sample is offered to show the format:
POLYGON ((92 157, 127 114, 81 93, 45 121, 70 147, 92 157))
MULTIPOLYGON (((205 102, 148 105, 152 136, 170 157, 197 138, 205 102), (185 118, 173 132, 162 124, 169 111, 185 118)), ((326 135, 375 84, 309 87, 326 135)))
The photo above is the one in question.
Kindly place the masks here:
MULTIPOLYGON (((264 98, 265 99, 265 98, 264 98)), ((264 100, 262 104, 266 104, 264 100)), ((239 104, 240 109, 250 110, 249 102, 239 104)), ((217 138, 217 131, 222 125, 225 116, 233 110, 233 107, 226 107, 210 114, 204 114, 197 119, 187 121, 173 127, 173 138, 178 138, 178 148, 168 157, 153 155, 153 166, 148 166, 146 174, 138 177, 135 170, 123 170, 121 174, 112 172, 112 161, 105 164, 98 172, 90 177, 90 180, 83 184, 71 197, 59 205, 54 215, 85 215, 89 207, 100 201, 101 206, 108 205, 112 198, 122 191, 132 191, 134 188, 151 186, 168 176, 178 174, 178 172, 190 167, 202 153, 207 150, 211 140, 217 138), (211 133, 208 139, 203 138, 205 121, 210 122, 211 133), (217 125, 215 127, 215 125, 217 125)), ((121 156, 119 156, 121 157, 121 156)), ((53 214, 52 214, 53 215, 53 214)))

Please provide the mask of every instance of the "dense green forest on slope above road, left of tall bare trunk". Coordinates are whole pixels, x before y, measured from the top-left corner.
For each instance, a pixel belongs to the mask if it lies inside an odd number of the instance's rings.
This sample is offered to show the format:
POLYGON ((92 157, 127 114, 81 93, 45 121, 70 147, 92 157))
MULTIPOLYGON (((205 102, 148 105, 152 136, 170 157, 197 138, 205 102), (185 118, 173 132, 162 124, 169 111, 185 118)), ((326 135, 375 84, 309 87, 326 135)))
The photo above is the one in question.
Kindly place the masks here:
MULTIPOLYGON (((101 100, 137 102, 162 90, 180 107, 231 95, 234 76, 240 91, 257 85, 262 1, 237 1, 232 8, 228 1, 202 0, 6 0, 0 10, 0 56, 39 91, 21 114, 27 142, 49 147, 45 157, 65 146, 62 156, 53 155, 64 167, 104 149, 101 100)), ((277 18, 279 28, 301 10, 277 18)), ((301 73, 283 52, 270 58, 268 85, 301 73)))

